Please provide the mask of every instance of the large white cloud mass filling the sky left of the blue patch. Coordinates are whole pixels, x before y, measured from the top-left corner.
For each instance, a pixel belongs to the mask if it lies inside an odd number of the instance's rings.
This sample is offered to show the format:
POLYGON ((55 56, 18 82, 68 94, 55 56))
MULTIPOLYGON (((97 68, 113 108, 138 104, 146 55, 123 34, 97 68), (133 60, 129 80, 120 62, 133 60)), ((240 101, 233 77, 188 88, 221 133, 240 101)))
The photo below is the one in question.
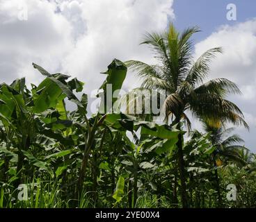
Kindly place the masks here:
MULTIPOLYGON (((78 77, 90 92, 102 83, 99 72, 113 58, 151 59, 138 44, 145 31, 166 28, 172 6, 173 0, 0 0, 1 80, 38 81, 35 62, 78 77), (27 21, 17 18, 21 4, 27 21)), ((128 80, 127 87, 136 82, 128 80)))

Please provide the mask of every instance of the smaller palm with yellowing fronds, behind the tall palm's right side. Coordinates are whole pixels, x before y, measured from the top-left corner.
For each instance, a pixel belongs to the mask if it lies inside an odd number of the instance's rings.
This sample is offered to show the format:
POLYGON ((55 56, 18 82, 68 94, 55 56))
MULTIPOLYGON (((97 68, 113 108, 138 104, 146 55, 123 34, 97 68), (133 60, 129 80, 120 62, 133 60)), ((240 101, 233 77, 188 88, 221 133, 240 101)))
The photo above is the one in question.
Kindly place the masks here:
POLYGON ((244 141, 239 135, 230 135, 234 128, 225 128, 221 121, 212 122, 205 120, 202 125, 206 133, 211 132, 211 144, 215 147, 212 153, 212 162, 214 164, 214 177, 218 193, 218 207, 221 207, 221 187, 217 167, 228 164, 230 161, 239 166, 246 166, 248 164, 246 155, 248 149, 245 146, 241 146, 241 143, 244 143, 244 141))

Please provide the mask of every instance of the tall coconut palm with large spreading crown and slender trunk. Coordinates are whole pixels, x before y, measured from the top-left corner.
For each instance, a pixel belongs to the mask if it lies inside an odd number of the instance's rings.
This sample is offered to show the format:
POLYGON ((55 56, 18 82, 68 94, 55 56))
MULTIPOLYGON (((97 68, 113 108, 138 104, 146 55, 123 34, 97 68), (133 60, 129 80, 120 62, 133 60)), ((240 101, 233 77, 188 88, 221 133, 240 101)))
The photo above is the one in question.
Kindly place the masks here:
MULTIPOLYGON (((164 107, 166 118, 172 117, 173 124, 182 128, 182 121, 191 126, 187 112, 195 118, 222 119, 235 125, 243 124, 241 110, 226 98, 229 93, 240 93, 236 84, 225 78, 209 80, 204 83, 209 73, 209 63, 221 53, 221 48, 209 49, 198 58, 193 59, 193 41, 191 36, 198 28, 188 28, 179 33, 173 24, 163 33, 147 33, 141 44, 150 46, 157 58, 157 65, 129 60, 127 66, 143 79, 141 88, 165 90, 164 107)), ((182 206, 189 207, 186 198, 186 178, 184 171, 184 155, 182 150, 183 136, 179 135, 177 156, 181 181, 182 206)))

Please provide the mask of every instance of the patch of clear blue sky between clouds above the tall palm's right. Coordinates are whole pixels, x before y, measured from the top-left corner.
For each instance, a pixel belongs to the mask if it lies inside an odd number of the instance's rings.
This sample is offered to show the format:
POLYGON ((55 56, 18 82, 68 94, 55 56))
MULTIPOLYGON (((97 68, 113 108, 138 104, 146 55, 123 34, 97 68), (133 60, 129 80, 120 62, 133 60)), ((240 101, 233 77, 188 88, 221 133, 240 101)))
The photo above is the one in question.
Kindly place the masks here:
POLYGON ((174 24, 179 29, 188 26, 199 26, 201 33, 196 36, 195 42, 216 31, 224 24, 235 25, 256 17, 255 0, 176 0, 173 3, 175 12, 174 24), (237 21, 226 19, 227 4, 237 6, 237 21))

